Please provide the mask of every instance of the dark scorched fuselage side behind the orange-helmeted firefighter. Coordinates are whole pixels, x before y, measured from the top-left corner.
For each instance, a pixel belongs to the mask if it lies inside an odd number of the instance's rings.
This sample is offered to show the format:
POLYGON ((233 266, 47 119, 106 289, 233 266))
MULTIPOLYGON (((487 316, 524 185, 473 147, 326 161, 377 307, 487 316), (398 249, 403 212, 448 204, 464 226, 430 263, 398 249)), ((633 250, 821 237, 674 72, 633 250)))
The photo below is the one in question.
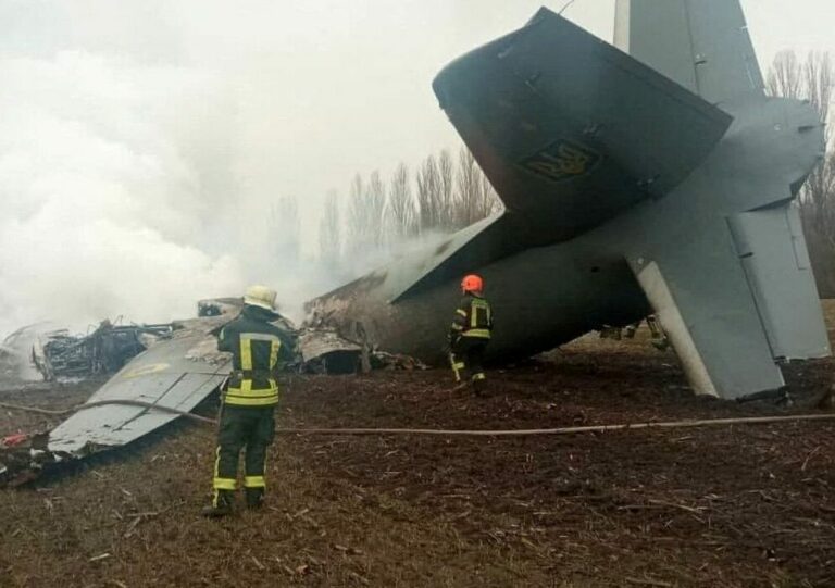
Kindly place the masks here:
MULTIPOLYGON (((603 324, 626 326, 652 312, 623 255, 599 259, 593 245, 581 238, 531 248, 477 268, 496 316, 489 360, 523 359, 603 324)), ((327 316, 340 334, 352 334, 359 324, 381 349, 444 365, 461 276, 395 303, 388 302, 385 276, 375 277, 314 299, 306 310, 327 316)))

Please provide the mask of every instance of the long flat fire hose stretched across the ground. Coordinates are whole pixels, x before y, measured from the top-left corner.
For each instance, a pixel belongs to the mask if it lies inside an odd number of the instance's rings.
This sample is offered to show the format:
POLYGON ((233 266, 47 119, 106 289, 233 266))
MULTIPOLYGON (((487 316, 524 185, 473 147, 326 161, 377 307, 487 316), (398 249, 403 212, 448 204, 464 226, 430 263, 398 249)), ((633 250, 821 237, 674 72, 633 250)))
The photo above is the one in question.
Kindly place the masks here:
MULTIPOLYGON (((0 408, 33 412, 37 414, 48 414, 50 416, 63 416, 74 412, 104 406, 108 404, 121 404, 127 406, 140 406, 144 409, 167 412, 179 416, 185 416, 205 423, 216 425, 217 421, 192 414, 190 412, 171 409, 142 402, 141 400, 99 400, 87 404, 78 404, 71 409, 62 411, 50 411, 47 409, 37 409, 34 406, 18 406, 0 402, 0 408)), ((559 427, 559 428, 534 428, 534 429, 510 429, 510 430, 448 430, 433 428, 277 428, 275 433, 282 435, 436 435, 441 437, 528 437, 533 435, 572 435, 577 433, 606 433, 609 430, 637 430, 648 428, 688 428, 707 426, 727 426, 727 425, 767 425, 771 423, 787 423, 796 421, 835 421, 835 413, 825 414, 795 414, 789 416, 741 416, 737 418, 706 418, 699 421, 666 421, 658 423, 631 423, 626 425, 587 425, 581 427, 559 427)))

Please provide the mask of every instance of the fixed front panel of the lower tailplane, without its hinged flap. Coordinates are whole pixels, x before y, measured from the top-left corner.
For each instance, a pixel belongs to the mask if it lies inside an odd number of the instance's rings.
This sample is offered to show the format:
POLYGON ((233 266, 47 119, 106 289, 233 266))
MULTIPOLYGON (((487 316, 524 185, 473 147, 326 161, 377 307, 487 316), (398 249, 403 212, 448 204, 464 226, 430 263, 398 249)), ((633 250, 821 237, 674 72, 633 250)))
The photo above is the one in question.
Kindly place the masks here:
MULTIPOLYGON (((695 230, 684 229, 677 238, 655 245, 645 241, 643 253, 627 255, 664 328, 671 303, 681 315, 684 327, 673 324, 669 335, 690 384, 698 393, 723 398, 781 388, 785 381, 727 224, 721 218, 694 224, 695 230), (641 276, 650 264, 663 277, 670 300, 646 289, 641 276)), ((632 238, 643 240, 638 234, 632 238)))

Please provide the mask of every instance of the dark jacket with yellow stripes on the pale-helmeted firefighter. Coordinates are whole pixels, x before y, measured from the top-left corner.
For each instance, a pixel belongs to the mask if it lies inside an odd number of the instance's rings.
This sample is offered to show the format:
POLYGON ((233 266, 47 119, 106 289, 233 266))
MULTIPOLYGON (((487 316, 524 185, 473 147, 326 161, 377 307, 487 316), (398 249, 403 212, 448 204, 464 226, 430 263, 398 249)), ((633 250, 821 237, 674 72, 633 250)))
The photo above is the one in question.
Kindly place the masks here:
POLYGON ((226 404, 271 406, 278 402, 275 372, 279 362, 294 358, 292 339, 271 325, 275 314, 247 304, 240 315, 221 329, 217 349, 232 353, 232 375, 226 404))

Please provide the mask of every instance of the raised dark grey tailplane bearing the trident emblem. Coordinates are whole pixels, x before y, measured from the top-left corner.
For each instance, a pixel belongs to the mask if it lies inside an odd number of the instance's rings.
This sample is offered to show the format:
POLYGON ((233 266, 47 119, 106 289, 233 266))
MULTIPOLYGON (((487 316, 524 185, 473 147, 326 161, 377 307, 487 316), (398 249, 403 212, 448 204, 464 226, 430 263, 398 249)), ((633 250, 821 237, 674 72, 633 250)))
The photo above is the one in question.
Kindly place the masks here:
POLYGON ((732 122, 547 9, 433 87, 508 211, 548 242, 662 198, 732 122))

